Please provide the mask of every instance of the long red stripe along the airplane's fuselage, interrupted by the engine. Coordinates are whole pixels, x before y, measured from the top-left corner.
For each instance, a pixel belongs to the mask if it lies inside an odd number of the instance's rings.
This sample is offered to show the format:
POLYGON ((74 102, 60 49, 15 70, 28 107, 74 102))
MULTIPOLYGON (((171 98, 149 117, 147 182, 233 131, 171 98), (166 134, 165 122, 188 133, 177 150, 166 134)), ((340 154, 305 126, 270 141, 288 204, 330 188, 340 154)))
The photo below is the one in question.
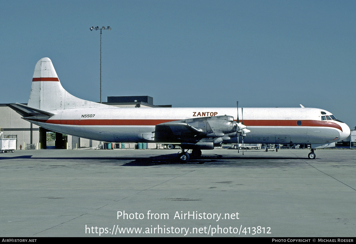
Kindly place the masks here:
MULTIPOLYGON (((80 119, 80 120, 34 120, 42 123, 49 124, 68 124, 79 126, 155 126, 156 124, 171 122, 176 120, 93 120, 93 119, 80 119)), ((244 120, 245 126, 289 126, 298 127, 298 120, 244 120)), ((342 131, 339 124, 329 121, 318 120, 300 120, 301 126, 308 127, 332 127, 342 131)))

